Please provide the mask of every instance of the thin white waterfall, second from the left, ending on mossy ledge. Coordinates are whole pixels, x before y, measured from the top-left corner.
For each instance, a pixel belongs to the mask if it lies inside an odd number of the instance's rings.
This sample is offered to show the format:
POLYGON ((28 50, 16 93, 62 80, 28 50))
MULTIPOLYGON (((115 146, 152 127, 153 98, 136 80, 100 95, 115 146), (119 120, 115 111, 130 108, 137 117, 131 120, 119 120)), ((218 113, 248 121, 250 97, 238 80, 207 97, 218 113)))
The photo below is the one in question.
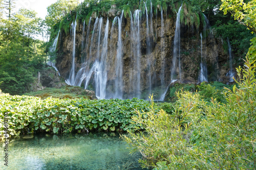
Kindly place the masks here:
POLYGON ((72 65, 71 65, 69 79, 66 81, 67 84, 72 86, 75 85, 76 25, 77 25, 77 21, 75 20, 75 23, 72 22, 71 24, 71 32, 73 33, 73 52, 72 52, 72 63, 71 63, 72 65))

